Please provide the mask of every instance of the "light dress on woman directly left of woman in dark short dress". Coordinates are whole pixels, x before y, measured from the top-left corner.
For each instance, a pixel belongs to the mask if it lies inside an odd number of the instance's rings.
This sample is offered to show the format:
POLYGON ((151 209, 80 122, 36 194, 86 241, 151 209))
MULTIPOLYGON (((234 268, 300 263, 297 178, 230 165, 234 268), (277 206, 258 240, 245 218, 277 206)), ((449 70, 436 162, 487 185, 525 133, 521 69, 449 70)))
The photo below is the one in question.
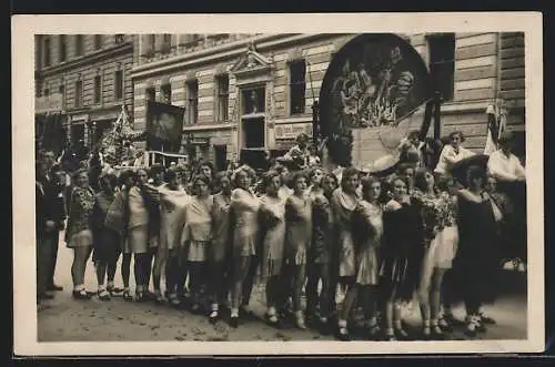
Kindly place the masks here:
POLYGON ((377 285, 381 265, 377 259, 377 248, 382 244, 383 236, 382 208, 366 201, 361 201, 357 214, 364 223, 364 231, 367 228, 370 235, 363 235, 365 238, 361 243, 356 256, 356 283, 377 285))

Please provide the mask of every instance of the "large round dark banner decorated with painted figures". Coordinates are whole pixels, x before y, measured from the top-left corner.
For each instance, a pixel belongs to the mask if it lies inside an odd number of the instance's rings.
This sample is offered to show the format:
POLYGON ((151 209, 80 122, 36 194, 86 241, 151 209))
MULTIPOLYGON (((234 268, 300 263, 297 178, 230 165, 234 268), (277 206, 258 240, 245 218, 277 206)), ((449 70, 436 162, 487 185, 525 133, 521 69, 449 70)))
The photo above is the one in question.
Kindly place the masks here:
POLYGON ((398 161, 397 146, 420 130, 431 98, 427 68, 395 34, 362 34, 333 58, 320 92, 320 135, 332 163, 370 172, 398 161))

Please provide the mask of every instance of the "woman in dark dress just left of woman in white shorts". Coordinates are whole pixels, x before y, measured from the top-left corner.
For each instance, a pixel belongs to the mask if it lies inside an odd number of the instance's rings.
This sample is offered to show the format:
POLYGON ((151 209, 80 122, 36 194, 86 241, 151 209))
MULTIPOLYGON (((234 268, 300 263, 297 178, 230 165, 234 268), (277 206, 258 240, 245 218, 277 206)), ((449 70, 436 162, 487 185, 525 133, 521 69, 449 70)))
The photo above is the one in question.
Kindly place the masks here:
POLYGON ((405 339, 401 304, 410 302, 417 285, 423 256, 423 218, 421 206, 407 194, 404 177, 390 180, 392 198, 385 204, 384 245, 380 275, 385 292, 385 338, 405 339))

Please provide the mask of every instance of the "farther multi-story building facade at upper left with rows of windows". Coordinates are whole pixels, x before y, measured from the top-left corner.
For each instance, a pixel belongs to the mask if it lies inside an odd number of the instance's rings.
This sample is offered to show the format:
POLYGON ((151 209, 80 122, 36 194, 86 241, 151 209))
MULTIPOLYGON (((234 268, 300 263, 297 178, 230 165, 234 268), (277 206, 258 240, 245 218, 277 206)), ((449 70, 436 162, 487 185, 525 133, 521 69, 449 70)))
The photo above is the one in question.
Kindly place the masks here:
POLYGON ((47 112, 62 113, 70 141, 91 147, 122 105, 132 112, 132 41, 125 34, 36 37, 36 96, 50 105, 47 112))

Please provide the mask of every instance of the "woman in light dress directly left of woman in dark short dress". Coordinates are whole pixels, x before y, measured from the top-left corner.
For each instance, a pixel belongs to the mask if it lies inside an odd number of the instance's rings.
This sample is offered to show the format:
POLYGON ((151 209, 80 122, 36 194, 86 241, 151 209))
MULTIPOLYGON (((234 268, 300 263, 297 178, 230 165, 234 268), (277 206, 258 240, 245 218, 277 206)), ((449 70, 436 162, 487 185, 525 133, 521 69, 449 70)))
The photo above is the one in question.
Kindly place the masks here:
POLYGON ((376 310, 375 288, 379 284, 380 268, 377 247, 381 245, 383 235, 382 207, 379 202, 381 192, 382 184, 376 179, 370 176, 362 180, 362 200, 353 213, 352 228, 356 255, 355 285, 347 289, 340 314, 339 336, 342 340, 349 339, 347 318, 359 297, 363 297, 360 304, 364 308, 364 316, 370 320, 369 332, 371 332, 370 327, 375 328, 377 325, 377 319, 371 318, 376 310))

